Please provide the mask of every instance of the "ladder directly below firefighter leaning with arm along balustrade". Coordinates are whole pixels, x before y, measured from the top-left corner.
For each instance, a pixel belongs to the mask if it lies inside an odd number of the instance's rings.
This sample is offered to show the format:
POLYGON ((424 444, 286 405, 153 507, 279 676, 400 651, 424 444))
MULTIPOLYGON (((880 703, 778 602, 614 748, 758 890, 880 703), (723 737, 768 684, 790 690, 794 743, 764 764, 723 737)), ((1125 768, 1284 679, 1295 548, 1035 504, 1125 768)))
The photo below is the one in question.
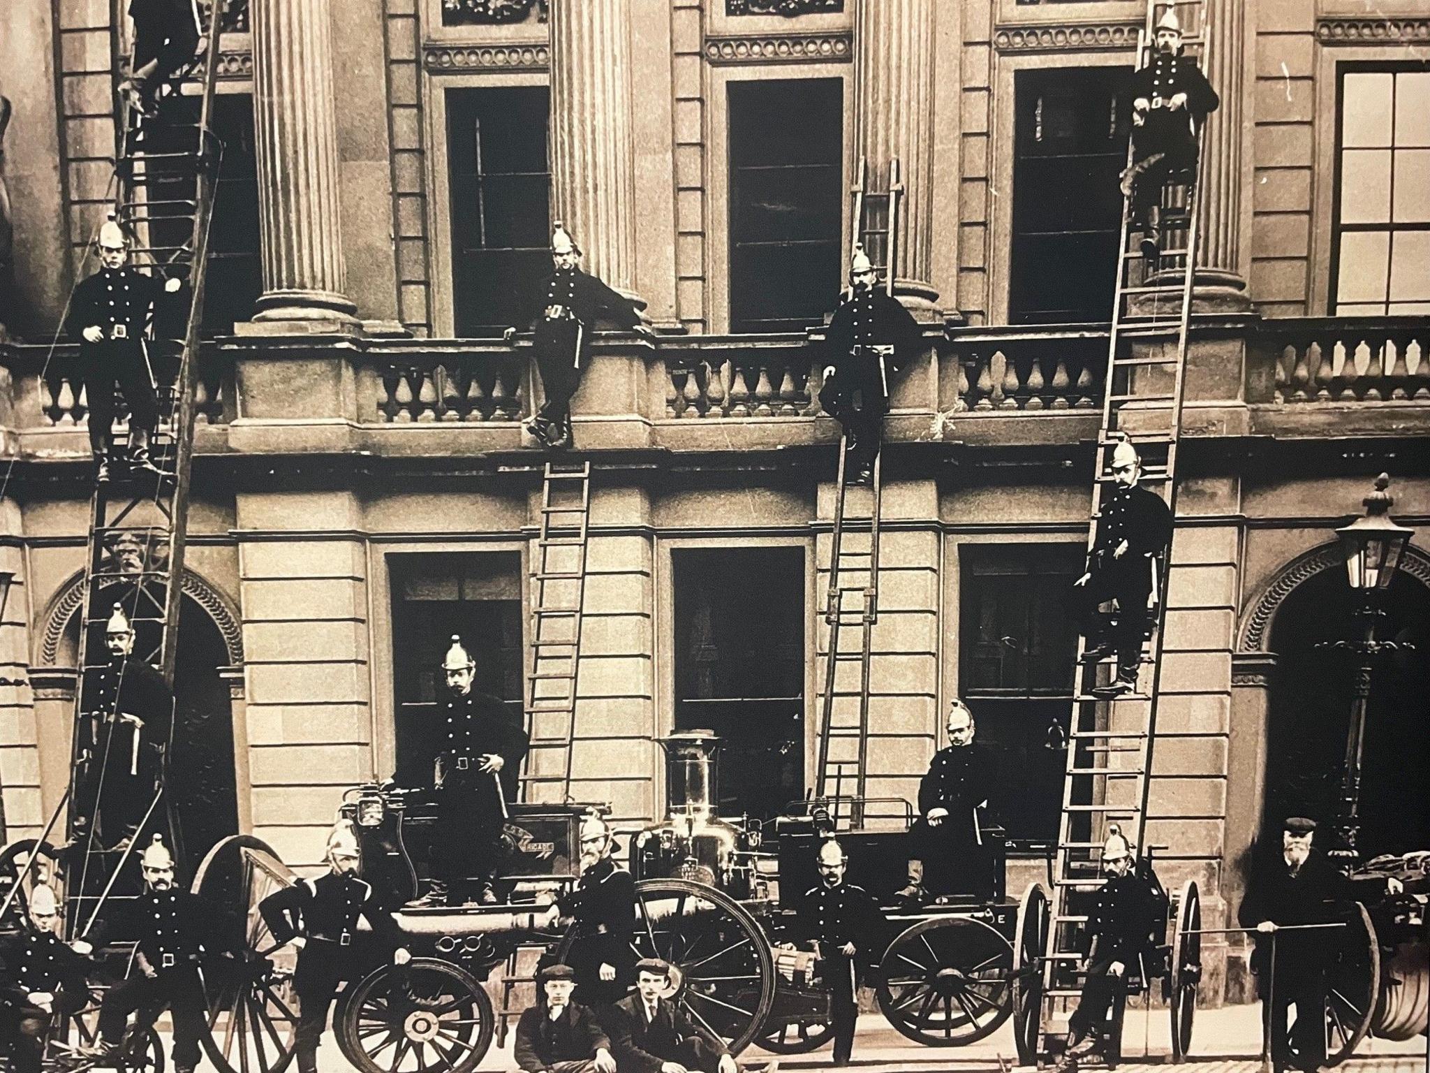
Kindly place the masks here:
POLYGON ((591 462, 546 464, 542 475, 536 568, 531 574, 531 661, 522 775, 526 801, 571 800, 576 735, 576 674, 586 598, 591 462))

